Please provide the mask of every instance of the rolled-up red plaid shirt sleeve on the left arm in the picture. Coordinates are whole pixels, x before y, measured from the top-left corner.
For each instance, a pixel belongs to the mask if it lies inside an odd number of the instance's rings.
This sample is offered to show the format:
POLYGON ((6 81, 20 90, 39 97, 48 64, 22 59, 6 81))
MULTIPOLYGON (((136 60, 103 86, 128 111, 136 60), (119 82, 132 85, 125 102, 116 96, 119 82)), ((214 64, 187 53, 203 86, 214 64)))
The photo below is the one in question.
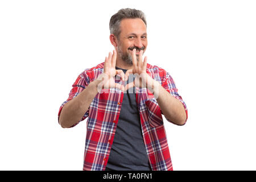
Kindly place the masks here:
MULTIPOLYGON (((67 104, 69 101, 71 101, 73 98, 75 98, 76 96, 78 96, 82 90, 84 90, 86 88, 86 86, 88 86, 90 83, 89 77, 86 76, 85 73, 81 73, 77 78, 76 81, 74 82, 74 84, 72 85, 72 89, 69 92, 69 96, 67 101, 64 101, 63 104, 61 104, 60 109, 59 109, 59 113, 58 113, 58 122, 60 123, 59 119, 60 119, 60 113, 61 110, 63 109, 64 105, 67 104)), ((89 107, 90 108, 90 107, 89 107)), ((88 110, 85 112, 84 116, 80 119, 79 122, 83 121, 85 118, 88 117, 89 115, 89 108, 88 110)), ((76 126, 79 122, 77 122, 75 125, 72 125, 71 127, 76 126)))

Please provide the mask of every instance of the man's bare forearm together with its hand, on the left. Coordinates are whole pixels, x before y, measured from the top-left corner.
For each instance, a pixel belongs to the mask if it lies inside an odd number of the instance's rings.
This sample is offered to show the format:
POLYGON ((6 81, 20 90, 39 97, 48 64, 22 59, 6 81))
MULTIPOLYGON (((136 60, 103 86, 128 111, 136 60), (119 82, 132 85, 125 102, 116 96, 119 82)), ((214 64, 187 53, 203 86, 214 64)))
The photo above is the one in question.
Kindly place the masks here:
POLYGON ((82 92, 71 101, 69 101, 60 113, 59 122, 62 127, 71 127, 81 121, 81 118, 85 112, 89 109, 93 98, 97 92, 100 93, 102 88, 119 88, 124 90, 124 86, 115 83, 115 75, 120 75, 122 80, 125 78, 125 73, 115 69, 115 62, 117 59, 117 52, 109 53, 109 57, 106 57, 104 64, 104 73, 101 73, 98 78, 84 89, 82 92))

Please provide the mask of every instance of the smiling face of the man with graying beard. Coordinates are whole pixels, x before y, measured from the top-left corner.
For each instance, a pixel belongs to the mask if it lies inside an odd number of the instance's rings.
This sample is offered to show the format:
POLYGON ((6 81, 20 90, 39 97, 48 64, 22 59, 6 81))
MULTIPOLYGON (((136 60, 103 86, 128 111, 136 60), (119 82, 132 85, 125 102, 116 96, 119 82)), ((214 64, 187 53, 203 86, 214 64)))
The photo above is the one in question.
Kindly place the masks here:
POLYGON ((132 65, 132 51, 136 49, 137 59, 139 51, 143 53, 147 48, 147 27, 140 18, 123 19, 120 23, 120 34, 117 43, 117 52, 123 61, 132 65))

